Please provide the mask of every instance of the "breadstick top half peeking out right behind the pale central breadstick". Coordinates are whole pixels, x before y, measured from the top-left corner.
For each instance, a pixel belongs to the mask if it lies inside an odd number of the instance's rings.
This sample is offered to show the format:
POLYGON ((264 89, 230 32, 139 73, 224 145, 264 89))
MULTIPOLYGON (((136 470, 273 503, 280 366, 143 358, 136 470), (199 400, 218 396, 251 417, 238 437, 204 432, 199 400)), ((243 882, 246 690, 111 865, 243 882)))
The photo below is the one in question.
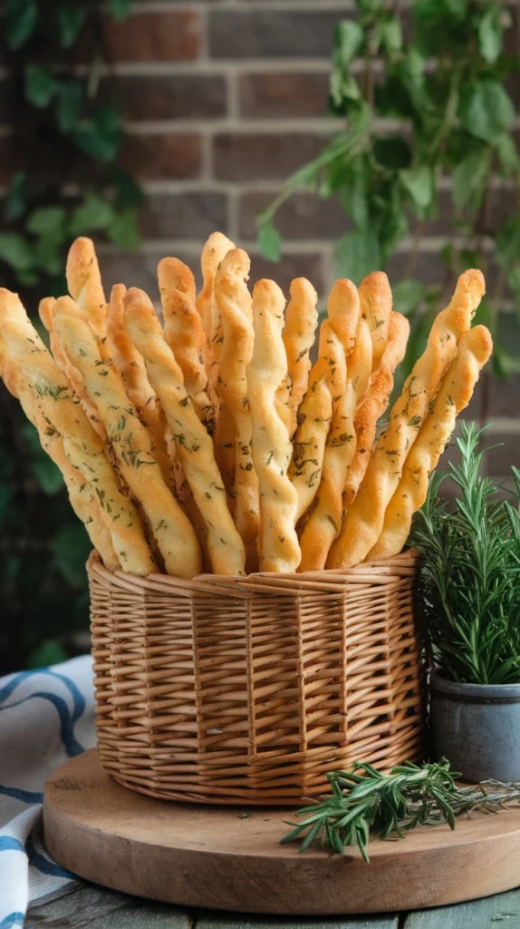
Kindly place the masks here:
POLYGON ((276 410, 283 419, 289 438, 297 428, 298 409, 309 384, 310 352, 318 325, 318 294, 306 278, 296 278, 289 288, 291 299, 285 309, 284 339, 287 377, 276 393, 276 410))

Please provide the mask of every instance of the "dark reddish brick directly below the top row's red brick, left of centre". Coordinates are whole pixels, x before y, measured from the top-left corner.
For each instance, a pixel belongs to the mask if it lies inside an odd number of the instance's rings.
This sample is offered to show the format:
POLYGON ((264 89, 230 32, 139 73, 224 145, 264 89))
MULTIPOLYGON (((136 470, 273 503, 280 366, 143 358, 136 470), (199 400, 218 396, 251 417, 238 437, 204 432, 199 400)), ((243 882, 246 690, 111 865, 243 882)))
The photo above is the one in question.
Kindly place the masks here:
POLYGON ((129 120, 216 119, 226 112, 222 75, 118 77, 115 92, 129 120))

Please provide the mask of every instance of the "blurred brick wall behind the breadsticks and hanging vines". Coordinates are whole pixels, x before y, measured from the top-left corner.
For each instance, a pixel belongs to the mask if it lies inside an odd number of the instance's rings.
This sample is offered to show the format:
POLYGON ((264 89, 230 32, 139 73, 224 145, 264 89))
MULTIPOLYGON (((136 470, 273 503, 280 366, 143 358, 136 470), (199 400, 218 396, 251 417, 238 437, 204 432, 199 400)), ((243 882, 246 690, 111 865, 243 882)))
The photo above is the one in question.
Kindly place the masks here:
MULTIPOLYGON (((221 229, 247 248, 253 281, 274 277, 286 288, 303 274, 325 292, 334 243, 348 228, 339 206, 306 193, 286 203, 277 220, 280 265, 258 255, 254 216, 338 127, 325 113, 332 34, 352 15, 340 0, 142 0, 129 20, 110 24, 127 123, 122 161, 140 177, 146 201, 141 254, 104 248, 108 285, 122 280, 157 298, 159 258, 174 254, 196 270, 203 242, 221 229)), ((499 196, 497 208, 506 202, 499 196)), ((442 280, 443 231, 441 218, 421 245, 415 273, 425 282, 442 280)), ((405 252, 396 255, 391 281, 405 261, 405 252)), ((488 385, 489 443, 505 442, 490 453, 496 474, 504 462, 520 464, 519 387, 519 378, 488 385)))

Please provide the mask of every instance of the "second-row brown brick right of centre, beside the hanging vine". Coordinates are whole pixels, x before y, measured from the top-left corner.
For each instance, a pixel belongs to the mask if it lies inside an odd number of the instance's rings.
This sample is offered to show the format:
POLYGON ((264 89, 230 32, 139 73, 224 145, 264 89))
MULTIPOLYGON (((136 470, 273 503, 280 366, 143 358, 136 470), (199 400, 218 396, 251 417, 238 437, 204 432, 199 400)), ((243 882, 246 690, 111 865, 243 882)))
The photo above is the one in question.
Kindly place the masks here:
POLYGON ((327 72, 242 74, 240 111, 246 119, 323 116, 327 72))

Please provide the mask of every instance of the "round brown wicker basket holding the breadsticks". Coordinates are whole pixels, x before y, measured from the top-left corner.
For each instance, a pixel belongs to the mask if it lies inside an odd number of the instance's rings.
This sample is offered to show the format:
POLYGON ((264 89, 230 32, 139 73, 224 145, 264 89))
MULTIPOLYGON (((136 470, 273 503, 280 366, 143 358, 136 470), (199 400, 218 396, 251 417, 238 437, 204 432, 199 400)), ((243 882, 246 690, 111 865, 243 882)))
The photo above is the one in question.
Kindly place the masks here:
POLYGON ((352 761, 422 757, 413 553, 185 582, 88 563, 102 764, 171 800, 298 805, 352 761))

